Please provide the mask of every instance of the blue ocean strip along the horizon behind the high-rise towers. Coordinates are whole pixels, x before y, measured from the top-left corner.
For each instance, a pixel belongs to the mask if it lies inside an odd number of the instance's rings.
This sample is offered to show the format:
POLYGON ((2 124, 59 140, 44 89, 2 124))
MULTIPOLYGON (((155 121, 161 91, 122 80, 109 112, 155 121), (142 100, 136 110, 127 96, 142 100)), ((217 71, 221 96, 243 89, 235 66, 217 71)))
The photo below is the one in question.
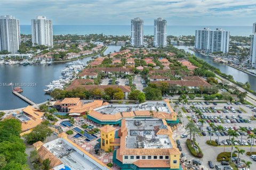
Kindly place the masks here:
MULTIPOLYGON (((195 35, 196 29, 222 28, 230 31, 231 36, 249 36, 252 33, 251 26, 204 26, 204 25, 168 25, 167 35, 188 36, 195 35)), ((103 33, 103 35, 130 35, 131 25, 53 25, 53 35, 77 34, 86 35, 92 33, 103 33)), ((31 34, 30 25, 20 25, 22 34, 31 34)), ((144 35, 153 35, 153 25, 144 25, 144 35)))

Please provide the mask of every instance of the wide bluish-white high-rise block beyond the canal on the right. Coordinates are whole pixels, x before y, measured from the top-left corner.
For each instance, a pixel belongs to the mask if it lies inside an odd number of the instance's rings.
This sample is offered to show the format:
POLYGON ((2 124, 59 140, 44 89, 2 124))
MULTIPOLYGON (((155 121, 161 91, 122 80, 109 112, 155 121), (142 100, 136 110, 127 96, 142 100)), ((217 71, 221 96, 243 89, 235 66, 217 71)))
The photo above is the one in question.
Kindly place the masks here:
POLYGON ((223 52, 228 53, 229 31, 222 29, 196 30, 195 49, 204 50, 207 53, 223 52))

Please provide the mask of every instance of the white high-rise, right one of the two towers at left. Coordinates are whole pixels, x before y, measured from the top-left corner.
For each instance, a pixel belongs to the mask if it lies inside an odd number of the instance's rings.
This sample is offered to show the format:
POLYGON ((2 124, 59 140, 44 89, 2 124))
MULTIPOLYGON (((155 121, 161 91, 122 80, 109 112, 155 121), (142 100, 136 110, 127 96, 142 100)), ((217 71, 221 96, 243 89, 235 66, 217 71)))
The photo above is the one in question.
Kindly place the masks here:
POLYGON ((31 31, 33 46, 53 47, 52 20, 47 20, 46 16, 37 16, 37 19, 31 20, 31 31))

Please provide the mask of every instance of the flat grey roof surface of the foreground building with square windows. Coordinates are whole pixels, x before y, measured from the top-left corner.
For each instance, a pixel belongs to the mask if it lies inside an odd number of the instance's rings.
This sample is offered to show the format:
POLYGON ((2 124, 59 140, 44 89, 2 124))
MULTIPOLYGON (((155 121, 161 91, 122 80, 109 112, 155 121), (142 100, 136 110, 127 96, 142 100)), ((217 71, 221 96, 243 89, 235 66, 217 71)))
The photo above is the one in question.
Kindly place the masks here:
POLYGON ((156 135, 155 126, 167 129, 163 121, 156 118, 126 119, 126 148, 172 148, 169 136, 156 135))

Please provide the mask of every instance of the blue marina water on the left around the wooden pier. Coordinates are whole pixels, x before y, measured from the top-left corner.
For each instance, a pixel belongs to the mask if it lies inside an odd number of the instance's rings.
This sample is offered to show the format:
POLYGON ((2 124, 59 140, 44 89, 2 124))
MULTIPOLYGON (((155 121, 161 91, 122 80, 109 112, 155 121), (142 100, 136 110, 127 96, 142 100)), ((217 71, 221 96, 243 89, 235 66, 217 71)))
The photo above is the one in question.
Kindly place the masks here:
MULTIPOLYGON (((108 46, 104 54, 119 51, 121 46, 108 46)), ((91 57, 83 58, 79 61, 86 64, 91 57)), ((42 103, 51 97, 45 95, 43 91, 46 85, 53 80, 58 80, 61 76, 61 70, 66 63, 56 63, 53 65, 5 65, 0 64, 0 111, 14 108, 26 107, 28 104, 12 94, 12 88, 4 84, 18 83, 24 84, 22 95, 28 97, 35 103, 42 103), (30 85, 30 86, 29 86, 30 85)))

